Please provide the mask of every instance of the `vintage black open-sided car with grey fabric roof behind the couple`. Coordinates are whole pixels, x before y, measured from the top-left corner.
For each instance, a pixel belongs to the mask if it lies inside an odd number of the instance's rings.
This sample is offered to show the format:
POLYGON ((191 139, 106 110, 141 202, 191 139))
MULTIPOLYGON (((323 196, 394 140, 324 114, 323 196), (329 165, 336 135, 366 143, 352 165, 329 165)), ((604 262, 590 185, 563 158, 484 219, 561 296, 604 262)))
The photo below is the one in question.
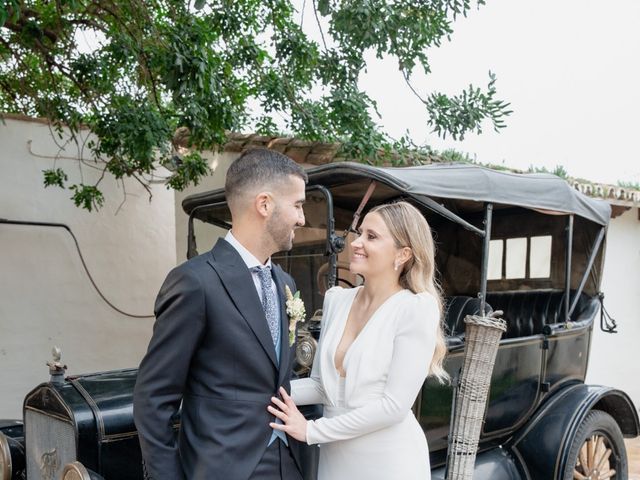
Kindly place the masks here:
MULTIPOLYGON (((465 347, 465 316, 502 310, 507 322, 474 478, 628 478, 623 437, 640 435, 637 411, 624 392, 584 383, 593 329, 615 329, 600 292, 608 204, 552 175, 468 164, 377 168, 344 162, 308 173, 307 224, 296 232, 294 248, 276 256, 296 279, 307 311, 315 312, 298 332, 298 375, 308 374, 315 353, 323 293, 363 281, 348 270, 354 215, 403 199, 424 213, 434 231, 446 298, 445 366, 454 379, 465 347)), ((187 197, 183 209, 189 257, 230 228, 222 190, 187 197)), ((142 478, 132 418, 135 377, 136 370, 58 373, 36 387, 25 398, 24 425, 0 424, 0 480, 142 478)), ((453 392, 452 385, 427 380, 414 405, 433 478, 445 478, 453 392)), ((308 479, 315 478, 316 456, 317 447, 309 447, 308 479)))

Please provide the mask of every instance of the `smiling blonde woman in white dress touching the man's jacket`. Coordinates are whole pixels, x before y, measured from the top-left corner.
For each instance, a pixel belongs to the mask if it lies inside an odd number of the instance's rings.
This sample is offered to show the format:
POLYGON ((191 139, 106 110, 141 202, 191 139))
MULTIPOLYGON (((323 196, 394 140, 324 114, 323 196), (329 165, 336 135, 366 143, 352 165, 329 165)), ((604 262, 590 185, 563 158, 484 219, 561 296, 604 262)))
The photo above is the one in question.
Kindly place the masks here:
POLYGON ((434 245, 422 214, 406 202, 364 218, 350 270, 363 286, 327 291, 311 376, 281 389, 269 411, 282 430, 320 444, 319 480, 425 480, 429 449, 411 412, 429 373, 446 381, 434 245), (324 405, 307 421, 297 405, 324 405))

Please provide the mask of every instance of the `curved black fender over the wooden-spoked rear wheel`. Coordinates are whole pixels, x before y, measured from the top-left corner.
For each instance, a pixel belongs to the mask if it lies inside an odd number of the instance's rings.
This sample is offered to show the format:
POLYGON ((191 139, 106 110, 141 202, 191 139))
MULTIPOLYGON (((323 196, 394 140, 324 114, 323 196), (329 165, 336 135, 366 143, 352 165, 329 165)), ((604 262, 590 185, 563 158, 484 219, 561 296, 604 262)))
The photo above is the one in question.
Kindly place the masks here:
POLYGON ((531 478, 561 478, 578 427, 593 409, 611 415, 625 437, 640 434, 638 413, 626 393, 599 385, 567 386, 552 394, 508 441, 531 478))

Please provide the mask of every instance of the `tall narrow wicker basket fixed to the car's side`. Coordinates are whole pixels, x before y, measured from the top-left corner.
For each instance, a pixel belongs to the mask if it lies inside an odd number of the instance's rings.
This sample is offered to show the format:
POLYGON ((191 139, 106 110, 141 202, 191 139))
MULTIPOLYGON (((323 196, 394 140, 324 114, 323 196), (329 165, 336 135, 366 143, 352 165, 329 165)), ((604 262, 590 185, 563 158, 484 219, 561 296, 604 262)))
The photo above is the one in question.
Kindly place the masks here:
MULTIPOLYGON (((502 312, 494 312, 498 314, 502 312)), ((462 371, 457 387, 447 456, 447 480, 473 478, 491 372, 507 324, 500 318, 467 315, 462 371)))

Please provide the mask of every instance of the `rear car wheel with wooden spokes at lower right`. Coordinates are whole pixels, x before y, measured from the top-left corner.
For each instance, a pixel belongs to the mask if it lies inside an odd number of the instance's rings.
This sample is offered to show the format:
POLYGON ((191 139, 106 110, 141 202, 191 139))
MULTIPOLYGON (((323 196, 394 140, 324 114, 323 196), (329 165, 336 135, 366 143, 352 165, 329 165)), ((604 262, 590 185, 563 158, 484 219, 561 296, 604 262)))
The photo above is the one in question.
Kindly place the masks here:
POLYGON ((627 451, 611 415, 592 410, 584 418, 569 450, 564 480, 627 480, 627 451))

